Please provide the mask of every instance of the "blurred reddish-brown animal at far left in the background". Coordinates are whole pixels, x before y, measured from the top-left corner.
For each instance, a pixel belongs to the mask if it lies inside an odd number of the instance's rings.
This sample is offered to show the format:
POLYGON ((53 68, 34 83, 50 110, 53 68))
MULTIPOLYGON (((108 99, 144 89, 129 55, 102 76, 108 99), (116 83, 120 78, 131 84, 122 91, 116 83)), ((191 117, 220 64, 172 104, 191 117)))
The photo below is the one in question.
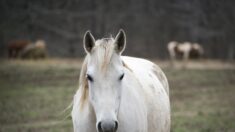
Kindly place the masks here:
POLYGON ((13 40, 8 43, 8 57, 18 58, 21 52, 27 47, 31 41, 29 40, 13 40))

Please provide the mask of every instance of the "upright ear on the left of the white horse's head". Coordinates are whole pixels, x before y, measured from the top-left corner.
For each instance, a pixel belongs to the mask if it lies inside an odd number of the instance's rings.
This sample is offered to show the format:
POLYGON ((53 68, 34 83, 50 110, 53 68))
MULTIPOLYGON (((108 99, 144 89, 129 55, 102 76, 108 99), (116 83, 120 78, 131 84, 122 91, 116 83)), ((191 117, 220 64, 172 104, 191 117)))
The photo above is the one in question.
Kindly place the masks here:
POLYGON ((90 31, 87 31, 84 35, 83 46, 87 53, 90 53, 92 48, 95 46, 95 39, 90 31))

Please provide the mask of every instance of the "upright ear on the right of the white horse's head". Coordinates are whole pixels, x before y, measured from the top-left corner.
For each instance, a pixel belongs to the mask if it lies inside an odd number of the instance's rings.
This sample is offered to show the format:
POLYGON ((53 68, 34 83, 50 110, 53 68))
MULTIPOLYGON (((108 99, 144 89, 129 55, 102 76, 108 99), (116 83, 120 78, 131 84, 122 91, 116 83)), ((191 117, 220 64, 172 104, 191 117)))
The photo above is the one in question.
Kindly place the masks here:
POLYGON ((116 51, 122 53, 126 47, 126 34, 123 29, 120 29, 115 37, 116 51))

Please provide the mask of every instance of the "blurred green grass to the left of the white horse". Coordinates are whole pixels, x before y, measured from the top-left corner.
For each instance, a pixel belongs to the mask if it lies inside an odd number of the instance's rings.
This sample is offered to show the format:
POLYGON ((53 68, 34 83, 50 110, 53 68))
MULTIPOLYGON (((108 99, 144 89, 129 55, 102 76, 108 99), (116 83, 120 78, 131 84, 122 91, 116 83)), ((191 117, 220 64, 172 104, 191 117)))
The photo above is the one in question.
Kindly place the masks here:
POLYGON ((0 131, 72 131, 69 111, 63 111, 77 89, 79 66, 61 65, 1 63, 0 131))

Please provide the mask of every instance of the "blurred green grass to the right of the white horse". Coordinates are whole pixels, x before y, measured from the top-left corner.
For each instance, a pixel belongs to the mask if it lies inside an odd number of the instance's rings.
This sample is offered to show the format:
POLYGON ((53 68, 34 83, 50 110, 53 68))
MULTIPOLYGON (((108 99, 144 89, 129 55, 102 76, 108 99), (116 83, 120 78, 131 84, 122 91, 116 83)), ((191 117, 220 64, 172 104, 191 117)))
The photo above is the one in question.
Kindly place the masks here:
POLYGON ((235 70, 166 71, 173 132, 235 131, 235 70))

